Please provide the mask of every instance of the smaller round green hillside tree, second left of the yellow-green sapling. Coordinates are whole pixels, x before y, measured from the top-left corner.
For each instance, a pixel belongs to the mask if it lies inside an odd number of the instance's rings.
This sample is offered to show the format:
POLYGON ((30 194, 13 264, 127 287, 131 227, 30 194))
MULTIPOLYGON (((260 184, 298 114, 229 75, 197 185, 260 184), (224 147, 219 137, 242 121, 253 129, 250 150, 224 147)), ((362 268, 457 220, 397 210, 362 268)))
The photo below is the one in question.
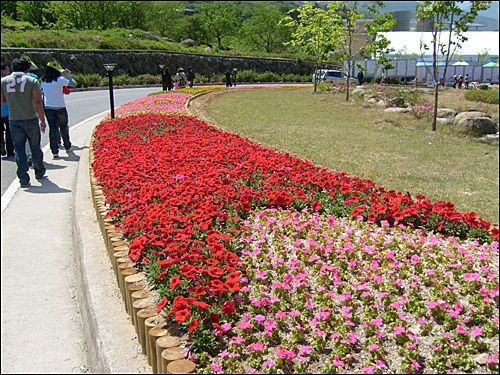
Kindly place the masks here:
POLYGON ((219 48, 222 47, 222 38, 233 35, 240 23, 233 3, 204 4, 201 17, 207 34, 217 40, 219 48))

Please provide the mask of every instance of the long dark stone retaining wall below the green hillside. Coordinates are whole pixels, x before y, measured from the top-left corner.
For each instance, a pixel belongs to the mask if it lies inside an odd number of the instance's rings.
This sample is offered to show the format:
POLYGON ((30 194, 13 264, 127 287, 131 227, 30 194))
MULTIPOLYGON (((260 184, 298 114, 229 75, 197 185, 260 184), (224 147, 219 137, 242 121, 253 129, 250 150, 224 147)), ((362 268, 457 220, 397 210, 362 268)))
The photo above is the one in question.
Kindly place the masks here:
POLYGON ((158 64, 166 64, 170 72, 189 67, 204 76, 221 74, 227 68, 254 70, 259 73, 270 71, 277 74, 312 74, 314 63, 297 62, 291 59, 259 58, 243 56, 216 56, 194 53, 168 52, 161 50, 76 50, 46 48, 2 48, 2 64, 9 64, 14 58, 28 55, 43 72, 47 62, 57 60, 63 68, 74 73, 105 75, 103 63, 117 63, 116 75, 159 74, 158 64))

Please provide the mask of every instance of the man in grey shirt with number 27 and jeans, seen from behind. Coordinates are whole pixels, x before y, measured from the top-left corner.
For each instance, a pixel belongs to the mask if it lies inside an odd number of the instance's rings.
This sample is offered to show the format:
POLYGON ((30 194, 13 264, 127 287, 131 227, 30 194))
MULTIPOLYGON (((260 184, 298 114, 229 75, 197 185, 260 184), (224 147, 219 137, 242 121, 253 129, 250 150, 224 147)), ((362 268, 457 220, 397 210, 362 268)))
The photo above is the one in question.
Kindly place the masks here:
POLYGON ((2 78, 1 103, 7 103, 9 106, 9 125, 16 154, 17 177, 22 188, 31 186, 25 152, 26 139, 33 157, 35 178, 42 179, 46 172, 40 148, 40 129, 45 132, 47 125, 40 99, 40 85, 35 78, 26 74, 30 67, 31 64, 26 59, 14 59, 12 74, 2 78))

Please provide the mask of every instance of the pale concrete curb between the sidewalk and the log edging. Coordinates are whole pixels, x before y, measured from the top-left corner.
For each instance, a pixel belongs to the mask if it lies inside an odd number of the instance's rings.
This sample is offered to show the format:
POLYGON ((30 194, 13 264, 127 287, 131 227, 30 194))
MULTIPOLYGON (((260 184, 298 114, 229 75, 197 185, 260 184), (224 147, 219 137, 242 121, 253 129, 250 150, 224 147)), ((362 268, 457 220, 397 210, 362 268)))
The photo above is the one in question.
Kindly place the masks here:
MULTIPOLYGON (((95 120, 94 126, 100 121, 95 120)), ((88 142, 86 142, 88 144, 88 142)), ((91 203, 89 152, 82 150, 73 186, 72 231, 78 302, 93 373, 151 373, 123 311, 91 203)))

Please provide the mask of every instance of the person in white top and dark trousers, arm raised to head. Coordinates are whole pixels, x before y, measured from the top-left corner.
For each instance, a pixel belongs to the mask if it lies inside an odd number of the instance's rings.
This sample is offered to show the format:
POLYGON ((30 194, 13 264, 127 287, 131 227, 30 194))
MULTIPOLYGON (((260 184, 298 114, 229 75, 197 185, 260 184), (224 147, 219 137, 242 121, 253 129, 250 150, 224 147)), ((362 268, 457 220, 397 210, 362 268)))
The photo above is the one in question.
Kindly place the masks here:
POLYGON ((45 97, 45 115, 49 123, 50 150, 54 159, 59 157, 59 135, 62 137, 64 149, 66 151, 71 149, 64 86, 76 86, 75 80, 69 75, 69 70, 62 69, 57 61, 47 63, 47 69, 42 77, 42 89, 45 97))

